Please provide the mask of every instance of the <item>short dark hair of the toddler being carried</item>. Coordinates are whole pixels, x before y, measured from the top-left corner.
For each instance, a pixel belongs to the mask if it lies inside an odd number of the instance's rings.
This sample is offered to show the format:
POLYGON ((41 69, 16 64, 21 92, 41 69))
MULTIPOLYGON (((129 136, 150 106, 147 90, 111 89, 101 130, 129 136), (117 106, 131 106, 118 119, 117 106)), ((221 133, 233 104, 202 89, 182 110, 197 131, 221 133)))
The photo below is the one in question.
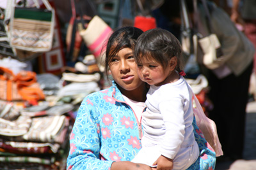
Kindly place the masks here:
POLYGON ((138 38, 133 53, 137 64, 153 58, 164 68, 167 67, 169 60, 176 56, 175 70, 182 70, 182 47, 170 31, 157 28, 144 32, 138 38))

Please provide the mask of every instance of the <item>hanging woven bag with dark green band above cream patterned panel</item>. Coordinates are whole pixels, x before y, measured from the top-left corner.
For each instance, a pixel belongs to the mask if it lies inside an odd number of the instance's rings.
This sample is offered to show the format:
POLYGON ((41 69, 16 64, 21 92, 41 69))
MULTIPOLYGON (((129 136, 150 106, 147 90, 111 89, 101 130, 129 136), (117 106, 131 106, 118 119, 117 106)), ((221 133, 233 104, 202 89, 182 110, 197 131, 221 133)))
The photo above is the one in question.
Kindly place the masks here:
POLYGON ((34 0, 36 8, 23 6, 12 7, 10 19, 10 44, 13 48, 31 52, 48 52, 52 48, 54 32, 54 9, 47 0, 34 0))

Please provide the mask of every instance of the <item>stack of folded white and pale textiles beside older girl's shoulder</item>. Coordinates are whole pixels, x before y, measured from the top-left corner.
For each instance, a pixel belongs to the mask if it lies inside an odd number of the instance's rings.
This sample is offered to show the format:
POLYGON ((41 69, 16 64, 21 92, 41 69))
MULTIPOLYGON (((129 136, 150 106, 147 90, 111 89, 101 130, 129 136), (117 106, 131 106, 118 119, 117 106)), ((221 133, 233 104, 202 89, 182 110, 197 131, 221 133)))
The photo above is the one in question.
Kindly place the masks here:
POLYGON ((56 101, 80 104, 84 97, 100 90, 102 73, 93 55, 86 55, 74 67, 65 67, 61 81, 63 87, 58 91, 56 101))

